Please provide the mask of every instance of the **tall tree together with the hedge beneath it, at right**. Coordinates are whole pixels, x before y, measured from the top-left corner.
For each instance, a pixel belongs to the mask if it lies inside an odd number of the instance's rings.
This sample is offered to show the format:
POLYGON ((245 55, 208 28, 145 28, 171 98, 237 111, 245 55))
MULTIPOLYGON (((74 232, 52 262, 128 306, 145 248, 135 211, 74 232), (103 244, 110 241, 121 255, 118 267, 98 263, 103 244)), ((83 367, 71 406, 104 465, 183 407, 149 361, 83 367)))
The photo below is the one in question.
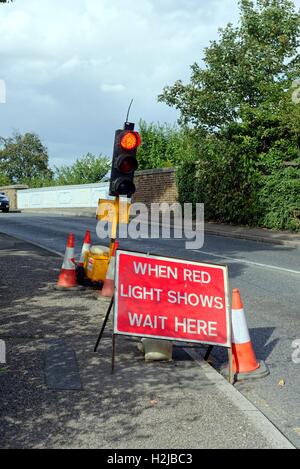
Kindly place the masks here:
POLYGON ((239 3, 239 25, 220 30, 205 67, 193 64, 189 83, 159 96, 193 129, 193 151, 179 164, 180 198, 204 201, 209 219, 299 228, 300 106, 292 85, 300 15, 288 0, 239 3))

